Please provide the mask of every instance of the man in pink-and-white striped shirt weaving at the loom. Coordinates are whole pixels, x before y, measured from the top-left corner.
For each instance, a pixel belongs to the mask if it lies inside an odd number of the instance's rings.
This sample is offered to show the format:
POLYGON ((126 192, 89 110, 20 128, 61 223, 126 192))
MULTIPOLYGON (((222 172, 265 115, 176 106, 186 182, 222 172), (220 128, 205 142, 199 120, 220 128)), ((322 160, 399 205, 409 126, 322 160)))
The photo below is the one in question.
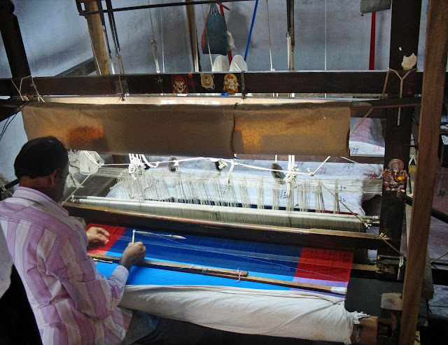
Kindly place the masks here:
POLYGON ((219 343, 221 332, 118 307, 129 270, 144 259, 129 244, 108 279, 87 256, 109 233, 83 225, 57 202, 68 174, 64 145, 52 136, 22 147, 14 164, 20 187, 0 203, 0 227, 46 344, 219 343))

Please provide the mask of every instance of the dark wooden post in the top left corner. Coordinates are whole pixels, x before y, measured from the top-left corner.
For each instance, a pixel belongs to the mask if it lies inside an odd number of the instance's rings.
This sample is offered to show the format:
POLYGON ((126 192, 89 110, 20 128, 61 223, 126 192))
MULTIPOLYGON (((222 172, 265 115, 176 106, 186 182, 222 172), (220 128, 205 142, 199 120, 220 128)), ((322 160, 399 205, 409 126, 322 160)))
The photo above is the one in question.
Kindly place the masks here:
POLYGON ((25 46, 20 34, 17 17, 13 14, 14 4, 10 0, 0 0, 0 31, 13 78, 31 75, 25 46))

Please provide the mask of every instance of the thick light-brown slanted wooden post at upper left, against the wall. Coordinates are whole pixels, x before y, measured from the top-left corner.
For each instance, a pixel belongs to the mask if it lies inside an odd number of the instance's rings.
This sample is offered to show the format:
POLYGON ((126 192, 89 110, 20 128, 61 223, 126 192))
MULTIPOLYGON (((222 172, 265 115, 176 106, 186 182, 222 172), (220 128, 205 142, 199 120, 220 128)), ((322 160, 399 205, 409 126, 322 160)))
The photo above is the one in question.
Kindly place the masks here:
MULTIPOLYGON (((98 10, 96 2, 84 3, 85 10, 98 10)), ((104 35, 102 22, 99 13, 96 15, 87 15, 87 27, 89 28, 90 40, 92 41, 93 58, 95 60, 95 69, 97 74, 110 74, 108 52, 104 44, 104 35)))

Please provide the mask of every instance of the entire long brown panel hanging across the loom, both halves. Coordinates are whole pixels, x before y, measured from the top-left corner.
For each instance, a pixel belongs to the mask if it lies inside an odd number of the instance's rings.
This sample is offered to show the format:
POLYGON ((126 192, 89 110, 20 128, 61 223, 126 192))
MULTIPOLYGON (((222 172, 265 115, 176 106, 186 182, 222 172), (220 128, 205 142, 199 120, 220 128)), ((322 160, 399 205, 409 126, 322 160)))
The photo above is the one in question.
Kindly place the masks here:
POLYGON ((343 101, 232 104, 224 97, 223 104, 36 102, 22 114, 28 139, 52 135, 76 150, 344 156, 349 155, 349 106, 343 101))

